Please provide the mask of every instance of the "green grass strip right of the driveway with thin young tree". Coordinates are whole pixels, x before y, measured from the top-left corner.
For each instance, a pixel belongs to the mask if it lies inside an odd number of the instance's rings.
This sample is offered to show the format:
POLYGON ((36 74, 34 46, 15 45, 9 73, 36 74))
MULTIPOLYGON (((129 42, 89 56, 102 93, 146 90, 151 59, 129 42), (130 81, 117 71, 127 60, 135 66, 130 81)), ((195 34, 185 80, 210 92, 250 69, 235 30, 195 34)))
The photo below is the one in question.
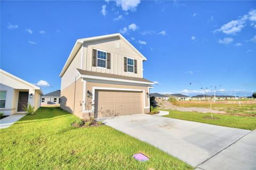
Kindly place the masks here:
POLYGON ((213 117, 218 119, 212 120, 205 118, 207 116, 211 116, 211 113, 169 111, 169 115, 166 115, 165 117, 172 117, 186 121, 227 126, 231 128, 248 130, 256 129, 256 117, 213 114, 213 117))

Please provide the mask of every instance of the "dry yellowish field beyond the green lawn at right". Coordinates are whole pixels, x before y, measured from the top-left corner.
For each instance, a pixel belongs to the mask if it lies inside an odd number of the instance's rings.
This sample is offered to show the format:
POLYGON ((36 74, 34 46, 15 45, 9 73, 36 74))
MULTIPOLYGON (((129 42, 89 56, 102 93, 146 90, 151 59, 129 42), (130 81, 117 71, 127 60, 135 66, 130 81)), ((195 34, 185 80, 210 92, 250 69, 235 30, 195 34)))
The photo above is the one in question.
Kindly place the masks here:
MULTIPOLYGON (((193 102, 180 103, 180 102, 177 102, 175 105, 182 106, 182 107, 210 108, 210 103, 193 103, 193 102)), ((254 114, 254 115, 256 115, 256 104, 241 103, 241 106, 239 106, 239 103, 236 103, 236 104, 212 103, 212 108, 217 109, 219 111, 225 111, 230 114, 254 114)))

